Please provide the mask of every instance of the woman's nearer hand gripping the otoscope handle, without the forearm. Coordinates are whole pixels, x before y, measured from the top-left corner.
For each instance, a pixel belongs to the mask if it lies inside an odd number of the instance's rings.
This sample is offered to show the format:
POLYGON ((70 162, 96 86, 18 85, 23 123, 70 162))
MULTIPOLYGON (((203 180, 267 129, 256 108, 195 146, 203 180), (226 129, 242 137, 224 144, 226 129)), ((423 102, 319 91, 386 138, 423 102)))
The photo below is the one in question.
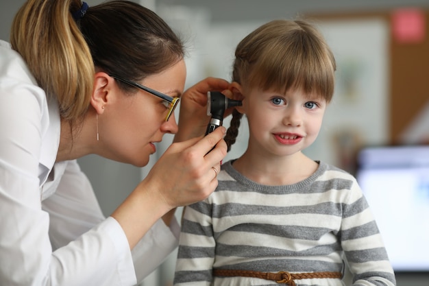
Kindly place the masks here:
POLYGON ((145 181, 158 186, 157 193, 170 208, 204 200, 217 187, 217 172, 226 155, 224 134, 221 127, 207 136, 173 143, 145 181))

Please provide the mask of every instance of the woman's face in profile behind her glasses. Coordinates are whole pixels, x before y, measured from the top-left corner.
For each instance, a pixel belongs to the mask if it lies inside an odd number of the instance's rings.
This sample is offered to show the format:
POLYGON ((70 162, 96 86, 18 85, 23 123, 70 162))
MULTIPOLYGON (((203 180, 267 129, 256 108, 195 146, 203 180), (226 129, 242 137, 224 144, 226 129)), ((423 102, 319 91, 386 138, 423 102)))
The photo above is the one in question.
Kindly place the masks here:
MULTIPOLYGON (((186 67, 181 60, 138 83, 165 95, 180 97, 185 80, 186 67)), ((138 88, 136 93, 127 95, 117 87, 103 115, 99 116, 103 156, 138 167, 147 165, 149 156, 156 152, 155 143, 160 142, 165 133, 177 132, 175 115, 165 121, 167 112, 165 102, 159 97, 138 88)))

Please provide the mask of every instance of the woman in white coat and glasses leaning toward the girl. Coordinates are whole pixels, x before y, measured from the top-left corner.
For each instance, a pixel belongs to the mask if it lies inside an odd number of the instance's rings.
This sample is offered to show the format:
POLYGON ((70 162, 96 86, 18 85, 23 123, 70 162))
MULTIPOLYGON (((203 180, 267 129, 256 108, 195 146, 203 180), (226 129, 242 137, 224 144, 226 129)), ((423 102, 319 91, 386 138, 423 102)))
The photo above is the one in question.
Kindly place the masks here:
POLYGON ((11 34, 12 49, 0 43, 0 285, 134 285, 177 245, 175 207, 217 186, 225 130, 195 137, 206 92, 228 82, 182 95, 182 43, 128 1, 29 0, 11 34), (141 167, 165 133, 176 143, 103 217, 76 159, 141 167))

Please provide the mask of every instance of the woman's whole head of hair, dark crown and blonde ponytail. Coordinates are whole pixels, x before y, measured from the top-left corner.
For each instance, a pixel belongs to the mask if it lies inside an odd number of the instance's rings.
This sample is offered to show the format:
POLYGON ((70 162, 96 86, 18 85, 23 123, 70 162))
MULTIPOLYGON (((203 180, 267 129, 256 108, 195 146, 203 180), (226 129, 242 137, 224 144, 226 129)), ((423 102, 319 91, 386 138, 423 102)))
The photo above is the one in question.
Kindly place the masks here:
POLYGON ((95 67, 138 81, 184 57, 167 23, 137 3, 108 1, 73 19, 81 8, 80 0, 29 0, 16 14, 10 38, 70 122, 82 119, 90 106, 95 67))

